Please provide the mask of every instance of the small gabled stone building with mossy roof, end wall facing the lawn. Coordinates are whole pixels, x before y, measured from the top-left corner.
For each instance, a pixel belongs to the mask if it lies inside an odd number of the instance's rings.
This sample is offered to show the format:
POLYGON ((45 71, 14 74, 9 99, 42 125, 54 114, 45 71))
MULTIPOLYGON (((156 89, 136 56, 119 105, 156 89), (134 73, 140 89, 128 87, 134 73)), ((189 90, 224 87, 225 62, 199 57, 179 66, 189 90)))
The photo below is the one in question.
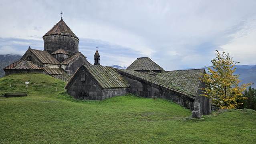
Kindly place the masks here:
POLYGON ((128 82, 112 67, 82 65, 65 87, 78 99, 103 100, 129 93, 128 82))

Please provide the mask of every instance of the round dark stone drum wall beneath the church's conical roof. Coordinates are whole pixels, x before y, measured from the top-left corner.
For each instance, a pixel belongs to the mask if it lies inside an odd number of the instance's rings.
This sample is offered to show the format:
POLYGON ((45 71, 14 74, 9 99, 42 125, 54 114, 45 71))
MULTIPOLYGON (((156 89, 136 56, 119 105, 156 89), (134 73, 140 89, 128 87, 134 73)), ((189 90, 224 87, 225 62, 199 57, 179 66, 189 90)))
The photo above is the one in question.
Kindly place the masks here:
POLYGON ((79 39, 77 38, 62 35, 49 35, 44 36, 43 39, 44 51, 48 51, 50 54, 60 48, 69 52, 71 55, 79 52, 79 39))

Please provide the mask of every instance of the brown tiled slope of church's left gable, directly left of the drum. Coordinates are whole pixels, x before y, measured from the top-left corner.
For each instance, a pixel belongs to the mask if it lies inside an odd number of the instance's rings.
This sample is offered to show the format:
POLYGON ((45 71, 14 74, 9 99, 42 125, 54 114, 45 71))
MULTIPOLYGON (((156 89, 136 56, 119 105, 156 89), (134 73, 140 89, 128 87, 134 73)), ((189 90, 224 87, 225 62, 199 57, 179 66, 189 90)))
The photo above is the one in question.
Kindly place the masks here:
POLYGON ((56 58, 54 58, 50 53, 43 50, 35 50, 29 48, 29 50, 44 64, 60 64, 56 58))

